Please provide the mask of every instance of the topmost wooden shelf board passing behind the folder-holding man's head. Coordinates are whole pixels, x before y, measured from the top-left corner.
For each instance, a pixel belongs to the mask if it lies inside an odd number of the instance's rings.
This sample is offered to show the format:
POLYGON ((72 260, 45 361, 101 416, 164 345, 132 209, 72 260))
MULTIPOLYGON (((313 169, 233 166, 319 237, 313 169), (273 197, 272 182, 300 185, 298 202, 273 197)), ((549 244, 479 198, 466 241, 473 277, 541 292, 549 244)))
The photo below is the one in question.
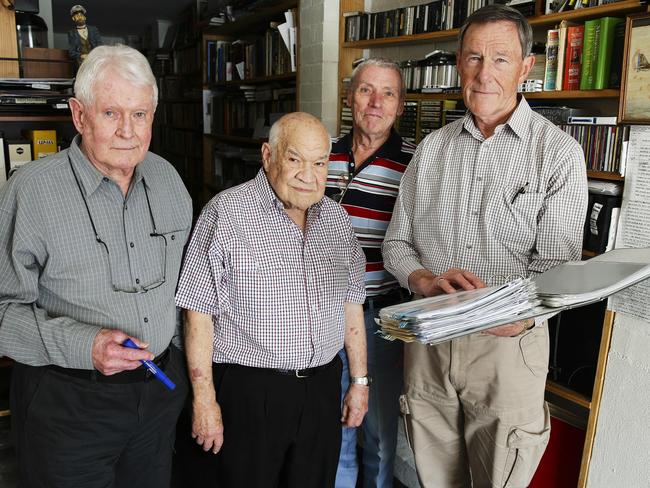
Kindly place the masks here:
MULTIPOLYGON (((570 10, 568 12, 559 12, 556 14, 540 15, 528 17, 530 25, 533 27, 553 26, 560 21, 567 19, 572 21, 589 20, 607 15, 622 16, 632 12, 641 12, 645 9, 638 0, 624 0, 622 2, 608 3, 598 7, 581 8, 570 10)), ((396 44, 422 44, 430 41, 452 41, 458 38, 459 29, 450 29, 445 31, 424 32, 413 34, 411 36, 383 37, 381 39, 367 39, 363 41, 344 42, 342 48, 370 48, 370 47, 388 47, 396 44)))

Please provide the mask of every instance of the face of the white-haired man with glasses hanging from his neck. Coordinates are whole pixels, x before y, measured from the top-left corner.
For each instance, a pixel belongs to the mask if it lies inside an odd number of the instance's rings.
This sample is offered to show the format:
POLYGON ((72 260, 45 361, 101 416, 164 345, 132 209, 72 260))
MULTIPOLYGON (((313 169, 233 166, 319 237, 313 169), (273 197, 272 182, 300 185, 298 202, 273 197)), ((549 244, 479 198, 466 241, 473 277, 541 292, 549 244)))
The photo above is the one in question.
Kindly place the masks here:
POLYGON ((94 87, 91 106, 72 99, 73 120, 81 150, 102 173, 128 173, 144 159, 151 142, 152 88, 135 86, 112 70, 94 87))

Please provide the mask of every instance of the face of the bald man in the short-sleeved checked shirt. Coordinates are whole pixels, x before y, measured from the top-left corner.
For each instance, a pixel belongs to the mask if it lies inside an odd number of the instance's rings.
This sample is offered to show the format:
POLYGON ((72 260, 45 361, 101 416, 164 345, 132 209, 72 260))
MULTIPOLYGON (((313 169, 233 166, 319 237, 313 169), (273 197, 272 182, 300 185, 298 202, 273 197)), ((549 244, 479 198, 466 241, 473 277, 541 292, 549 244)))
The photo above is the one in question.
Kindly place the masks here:
POLYGON ((325 193, 329 139, 311 121, 294 124, 284 134, 275 154, 268 143, 262 145, 266 176, 285 210, 307 210, 325 193))

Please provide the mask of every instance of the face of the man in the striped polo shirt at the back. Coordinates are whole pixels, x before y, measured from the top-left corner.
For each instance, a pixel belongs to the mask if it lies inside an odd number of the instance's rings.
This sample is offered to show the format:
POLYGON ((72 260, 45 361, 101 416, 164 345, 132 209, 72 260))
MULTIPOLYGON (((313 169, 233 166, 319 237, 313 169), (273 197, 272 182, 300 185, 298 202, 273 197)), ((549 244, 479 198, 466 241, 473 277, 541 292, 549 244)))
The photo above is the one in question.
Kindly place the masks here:
POLYGON ((400 88, 395 70, 372 65, 363 68, 354 90, 348 95, 354 130, 364 136, 388 137, 395 119, 404 109, 400 88))

